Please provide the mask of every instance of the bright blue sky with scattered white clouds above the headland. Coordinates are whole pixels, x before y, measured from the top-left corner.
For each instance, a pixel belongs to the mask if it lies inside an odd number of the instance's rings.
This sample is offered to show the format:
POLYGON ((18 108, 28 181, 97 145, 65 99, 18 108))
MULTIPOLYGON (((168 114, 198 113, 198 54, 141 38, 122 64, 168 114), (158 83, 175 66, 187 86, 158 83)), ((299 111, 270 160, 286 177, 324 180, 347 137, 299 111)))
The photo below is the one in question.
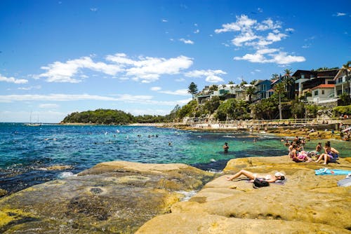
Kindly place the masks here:
POLYGON ((351 60, 351 1, 0 1, 0 122, 169 113, 187 87, 351 60))

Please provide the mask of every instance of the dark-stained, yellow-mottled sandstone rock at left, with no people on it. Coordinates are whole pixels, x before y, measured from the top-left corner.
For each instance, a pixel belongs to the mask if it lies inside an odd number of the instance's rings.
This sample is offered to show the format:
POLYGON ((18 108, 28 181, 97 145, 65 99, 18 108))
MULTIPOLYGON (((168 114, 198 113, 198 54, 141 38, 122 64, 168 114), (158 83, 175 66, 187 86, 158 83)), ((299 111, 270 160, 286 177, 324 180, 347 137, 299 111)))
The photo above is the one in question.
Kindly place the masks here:
POLYGON ((0 233, 135 233, 213 174, 182 164, 100 163, 0 200, 0 233))

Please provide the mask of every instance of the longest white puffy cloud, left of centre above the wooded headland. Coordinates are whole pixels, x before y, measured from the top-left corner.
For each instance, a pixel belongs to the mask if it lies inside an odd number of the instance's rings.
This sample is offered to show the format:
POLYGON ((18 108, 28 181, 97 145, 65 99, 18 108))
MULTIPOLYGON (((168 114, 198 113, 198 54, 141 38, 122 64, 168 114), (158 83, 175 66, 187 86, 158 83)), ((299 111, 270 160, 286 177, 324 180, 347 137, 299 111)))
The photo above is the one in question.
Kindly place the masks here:
POLYGON ((90 69, 110 76, 119 73, 121 79, 131 78, 133 81, 150 83, 157 81, 164 74, 179 74, 181 70, 192 65, 192 58, 183 55, 169 59, 140 56, 133 60, 124 53, 117 53, 107 55, 105 60, 112 62, 112 64, 94 62, 91 57, 81 57, 67 62, 53 62, 46 67, 41 67, 46 72, 37 77, 46 78, 48 82, 79 83, 87 77, 85 74, 81 74, 83 69, 90 69))

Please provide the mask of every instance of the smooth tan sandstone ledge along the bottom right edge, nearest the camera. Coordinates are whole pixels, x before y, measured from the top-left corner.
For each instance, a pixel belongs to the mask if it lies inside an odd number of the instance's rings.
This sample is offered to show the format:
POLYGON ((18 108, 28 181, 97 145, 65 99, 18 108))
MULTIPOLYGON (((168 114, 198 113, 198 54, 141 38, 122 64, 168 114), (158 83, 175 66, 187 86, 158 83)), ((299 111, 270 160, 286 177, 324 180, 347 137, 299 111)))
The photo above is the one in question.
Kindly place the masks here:
POLYGON ((334 233, 343 234, 350 231, 333 226, 306 223, 302 221, 237 219, 226 218, 207 213, 164 214, 147 221, 135 234, 164 233, 334 233))

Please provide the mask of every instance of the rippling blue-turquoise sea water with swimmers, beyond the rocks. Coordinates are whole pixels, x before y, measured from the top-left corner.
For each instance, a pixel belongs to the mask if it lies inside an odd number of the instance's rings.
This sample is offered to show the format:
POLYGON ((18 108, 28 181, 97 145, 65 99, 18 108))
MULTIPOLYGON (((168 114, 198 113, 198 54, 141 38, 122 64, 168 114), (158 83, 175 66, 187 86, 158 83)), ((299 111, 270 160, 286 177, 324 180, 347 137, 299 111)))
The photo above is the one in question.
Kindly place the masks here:
MULTIPOLYGON (((185 163, 220 172, 228 160, 287 154, 281 137, 249 132, 201 132, 116 125, 0 123, 0 188, 9 193, 53 179, 74 176, 97 163, 185 163), (257 139, 254 142, 253 139, 257 139), (223 152, 223 144, 230 146, 223 152)), ((324 144, 326 140, 320 140, 324 144)), ((307 142, 314 150, 317 140, 307 142)), ((331 140, 340 156, 350 142, 331 140)))

